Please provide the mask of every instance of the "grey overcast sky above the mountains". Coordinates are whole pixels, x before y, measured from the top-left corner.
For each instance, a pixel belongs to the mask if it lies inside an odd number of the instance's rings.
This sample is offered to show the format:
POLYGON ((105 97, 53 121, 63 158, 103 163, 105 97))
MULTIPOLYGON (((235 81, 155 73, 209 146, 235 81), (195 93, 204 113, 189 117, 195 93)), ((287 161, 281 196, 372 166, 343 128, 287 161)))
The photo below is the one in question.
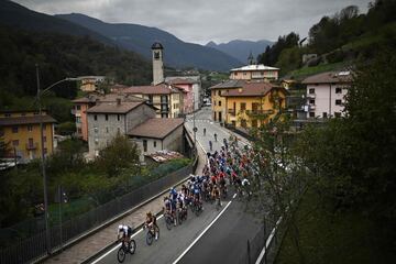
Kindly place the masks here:
POLYGON ((47 14, 84 13, 110 23, 165 30, 185 42, 270 40, 295 31, 307 36, 323 15, 371 0, 14 0, 47 14))

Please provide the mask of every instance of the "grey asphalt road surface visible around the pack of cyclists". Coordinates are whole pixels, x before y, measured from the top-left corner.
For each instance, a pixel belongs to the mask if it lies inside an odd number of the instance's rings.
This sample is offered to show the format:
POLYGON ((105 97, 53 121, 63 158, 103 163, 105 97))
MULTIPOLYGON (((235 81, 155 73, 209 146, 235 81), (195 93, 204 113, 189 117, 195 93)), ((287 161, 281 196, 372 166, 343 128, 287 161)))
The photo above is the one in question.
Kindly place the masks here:
MULTIPOLYGON (((195 118, 199 145, 207 152, 211 140, 213 151, 220 150, 222 139, 229 139, 230 132, 211 122, 210 109, 202 109, 195 118), (205 136, 204 128, 207 129, 205 136), (218 134, 218 142, 215 142, 215 133, 218 134)), ((186 127, 193 130, 191 117, 187 118, 186 127)), ((210 204, 204 204, 204 207, 205 211, 199 217, 189 211, 189 219, 170 231, 166 229, 164 219, 160 219, 161 238, 151 246, 145 244, 144 231, 136 233, 136 253, 128 255, 125 263, 239 263, 239 252, 246 249, 248 239, 252 239, 258 231, 258 221, 245 213, 244 205, 232 197, 223 201, 223 208, 219 211, 210 204)), ((94 263, 117 262, 117 250, 106 253, 94 263)))

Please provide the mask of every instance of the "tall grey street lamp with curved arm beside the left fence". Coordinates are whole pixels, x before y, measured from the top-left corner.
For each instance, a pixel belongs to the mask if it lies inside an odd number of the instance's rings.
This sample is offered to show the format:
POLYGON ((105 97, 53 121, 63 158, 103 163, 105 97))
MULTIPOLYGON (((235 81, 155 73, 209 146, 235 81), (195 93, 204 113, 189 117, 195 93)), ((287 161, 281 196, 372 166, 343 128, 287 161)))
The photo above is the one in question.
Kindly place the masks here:
POLYGON ((48 198, 47 198, 47 186, 46 186, 46 172, 45 172, 45 155, 44 155, 44 133, 43 133, 43 117, 42 117, 42 102, 41 97, 42 95, 50 90, 51 88, 57 86, 64 81, 77 80, 77 78, 65 78, 58 80, 44 90, 40 90, 40 76, 38 76, 38 64, 35 65, 36 67, 36 79, 37 79, 37 103, 38 103, 38 116, 40 116, 40 141, 41 141, 41 158, 42 158, 42 174, 43 174, 43 188, 44 188, 44 220, 45 220, 45 240, 46 240, 46 250, 47 253, 51 253, 51 239, 50 239, 50 227, 48 227, 48 198))

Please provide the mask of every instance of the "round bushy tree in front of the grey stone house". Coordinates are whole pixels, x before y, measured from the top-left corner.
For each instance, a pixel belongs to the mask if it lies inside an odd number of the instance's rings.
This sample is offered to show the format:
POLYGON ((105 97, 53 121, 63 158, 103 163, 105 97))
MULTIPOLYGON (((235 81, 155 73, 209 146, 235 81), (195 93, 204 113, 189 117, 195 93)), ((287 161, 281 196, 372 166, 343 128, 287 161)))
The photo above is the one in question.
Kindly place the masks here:
POLYGON ((127 136, 117 134, 116 138, 100 152, 97 164, 102 167, 109 177, 120 175, 123 168, 140 170, 138 145, 127 136))

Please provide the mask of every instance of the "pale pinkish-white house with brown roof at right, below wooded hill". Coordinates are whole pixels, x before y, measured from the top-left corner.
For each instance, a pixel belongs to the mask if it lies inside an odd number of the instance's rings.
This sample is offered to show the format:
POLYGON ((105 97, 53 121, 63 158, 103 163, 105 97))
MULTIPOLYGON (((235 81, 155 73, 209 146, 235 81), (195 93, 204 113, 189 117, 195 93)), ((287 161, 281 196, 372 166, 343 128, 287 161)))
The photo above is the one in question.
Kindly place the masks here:
POLYGON ((352 81, 350 72, 327 72, 306 78, 307 118, 332 118, 344 116, 344 102, 352 81))

